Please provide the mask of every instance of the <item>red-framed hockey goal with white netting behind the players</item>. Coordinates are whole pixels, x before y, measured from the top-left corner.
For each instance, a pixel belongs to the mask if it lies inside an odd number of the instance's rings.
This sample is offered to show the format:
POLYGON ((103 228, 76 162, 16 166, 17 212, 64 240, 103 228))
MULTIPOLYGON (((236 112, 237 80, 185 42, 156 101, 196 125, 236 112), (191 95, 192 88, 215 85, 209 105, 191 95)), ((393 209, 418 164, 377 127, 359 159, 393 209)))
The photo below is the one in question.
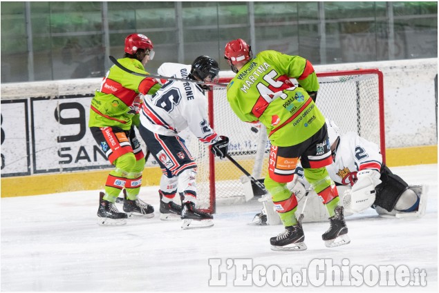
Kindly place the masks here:
MULTIPOLYGON (((317 72, 317 77, 320 84, 317 107, 324 116, 334 120, 342 132, 356 132, 380 145, 385 162, 382 72, 377 69, 317 72)), ((228 83, 231 79, 221 78, 219 82, 228 83)), ((218 134, 230 139, 230 155, 254 178, 265 178, 270 149, 265 127, 240 121, 230 108, 223 87, 214 87, 208 92, 208 105, 209 123, 218 134)), ((227 159, 215 158, 209 148, 196 139, 189 139, 189 150, 198 165, 200 208, 214 213, 218 203, 244 203, 248 199, 251 183, 235 165, 227 159)))

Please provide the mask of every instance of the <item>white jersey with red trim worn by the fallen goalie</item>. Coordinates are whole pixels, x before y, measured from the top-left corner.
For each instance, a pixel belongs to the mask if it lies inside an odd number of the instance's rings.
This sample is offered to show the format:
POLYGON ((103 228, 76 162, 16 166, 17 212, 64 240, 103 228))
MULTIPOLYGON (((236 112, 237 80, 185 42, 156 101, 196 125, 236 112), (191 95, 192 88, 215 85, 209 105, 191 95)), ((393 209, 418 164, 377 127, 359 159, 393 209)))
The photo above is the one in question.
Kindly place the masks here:
POLYGON ((333 161, 326 166, 330 178, 352 186, 357 181, 358 171, 372 169, 380 172, 382 155, 375 143, 359 137, 355 132, 346 132, 339 137, 333 161))

